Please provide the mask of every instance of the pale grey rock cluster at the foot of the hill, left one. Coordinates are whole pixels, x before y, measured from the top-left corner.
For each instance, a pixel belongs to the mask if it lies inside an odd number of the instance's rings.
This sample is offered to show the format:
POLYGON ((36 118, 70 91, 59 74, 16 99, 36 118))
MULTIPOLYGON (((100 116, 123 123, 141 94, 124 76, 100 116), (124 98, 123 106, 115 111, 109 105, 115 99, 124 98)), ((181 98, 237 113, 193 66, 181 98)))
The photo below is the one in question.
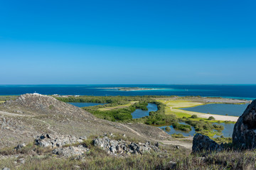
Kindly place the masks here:
MULTIPOLYGON (((85 139, 85 137, 80 138, 85 139)), ((83 140, 80 138, 70 135, 65 136, 42 134, 36 137, 35 144, 40 147, 63 147, 64 145, 71 145, 82 142, 83 140)))

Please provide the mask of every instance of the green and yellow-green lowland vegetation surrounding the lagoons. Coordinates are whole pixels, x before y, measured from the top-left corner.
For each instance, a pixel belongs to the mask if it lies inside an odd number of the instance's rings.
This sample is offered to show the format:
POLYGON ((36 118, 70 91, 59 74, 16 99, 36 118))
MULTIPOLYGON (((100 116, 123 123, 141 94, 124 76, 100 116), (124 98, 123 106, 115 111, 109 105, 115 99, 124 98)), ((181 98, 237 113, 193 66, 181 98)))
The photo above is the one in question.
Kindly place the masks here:
POLYGON ((204 104, 188 101, 193 96, 178 97, 180 99, 177 101, 167 100, 167 98, 170 98, 170 96, 69 96, 65 98, 58 97, 57 99, 65 102, 107 103, 103 106, 83 108, 85 111, 94 114, 97 118, 105 120, 138 122, 147 125, 173 125, 175 129, 183 131, 190 131, 191 126, 193 126, 196 132, 210 137, 221 135, 221 130, 223 130, 222 125, 212 125, 212 123, 233 123, 230 121, 217 121, 213 116, 209 118, 198 118, 198 113, 191 115, 193 112, 178 109, 204 104), (156 101, 156 97, 161 98, 161 100, 156 101), (163 98, 166 101, 162 100, 163 98), (147 103, 155 103, 158 111, 150 112, 149 116, 145 116, 144 118, 132 119, 131 113, 137 108, 146 111, 147 103), (179 122, 184 122, 188 125, 181 125, 179 122))

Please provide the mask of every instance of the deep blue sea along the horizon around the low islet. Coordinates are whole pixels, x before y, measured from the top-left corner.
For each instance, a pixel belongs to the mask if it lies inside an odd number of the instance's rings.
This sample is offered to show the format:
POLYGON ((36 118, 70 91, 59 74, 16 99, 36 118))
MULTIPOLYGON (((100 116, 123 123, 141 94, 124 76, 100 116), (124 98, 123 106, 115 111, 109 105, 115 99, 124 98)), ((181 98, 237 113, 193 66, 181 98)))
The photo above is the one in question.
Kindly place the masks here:
POLYGON ((116 84, 116 85, 0 85, 0 95, 39 94, 87 96, 217 96, 225 98, 256 98, 256 85, 167 85, 167 84, 116 84), (114 87, 141 87, 154 90, 119 91, 114 87))

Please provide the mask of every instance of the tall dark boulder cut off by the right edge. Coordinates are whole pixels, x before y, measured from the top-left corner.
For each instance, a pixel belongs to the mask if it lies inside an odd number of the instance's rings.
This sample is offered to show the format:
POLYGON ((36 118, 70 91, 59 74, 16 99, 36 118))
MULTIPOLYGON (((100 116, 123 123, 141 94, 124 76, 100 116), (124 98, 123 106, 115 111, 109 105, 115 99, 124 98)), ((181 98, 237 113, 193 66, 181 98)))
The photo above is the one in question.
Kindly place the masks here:
POLYGON ((256 148, 256 100, 247 106, 235 123, 233 145, 239 149, 256 148))

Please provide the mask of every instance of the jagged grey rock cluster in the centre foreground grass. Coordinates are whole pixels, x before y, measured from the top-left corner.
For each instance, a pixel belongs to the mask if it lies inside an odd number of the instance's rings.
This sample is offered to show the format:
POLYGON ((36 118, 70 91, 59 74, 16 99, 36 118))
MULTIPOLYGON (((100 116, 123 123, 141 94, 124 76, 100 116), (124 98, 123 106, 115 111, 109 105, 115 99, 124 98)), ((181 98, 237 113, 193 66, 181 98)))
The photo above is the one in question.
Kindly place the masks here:
POLYGON ((108 154, 124 155, 124 154, 143 154, 151 150, 159 152, 159 143, 151 145, 151 142, 146 143, 128 143, 124 140, 110 140, 108 137, 96 138, 93 140, 93 145, 101 147, 108 154))

